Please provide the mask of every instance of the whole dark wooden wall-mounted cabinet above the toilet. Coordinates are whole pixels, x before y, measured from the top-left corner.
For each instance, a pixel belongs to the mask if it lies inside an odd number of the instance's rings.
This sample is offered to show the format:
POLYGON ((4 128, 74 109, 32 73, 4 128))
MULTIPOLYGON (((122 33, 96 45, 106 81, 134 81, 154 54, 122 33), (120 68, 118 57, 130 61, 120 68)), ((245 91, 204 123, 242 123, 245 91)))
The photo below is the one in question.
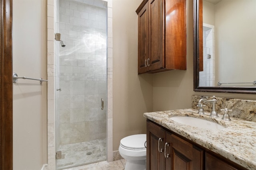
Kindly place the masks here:
POLYGON ((138 74, 186 70, 186 0, 143 0, 136 13, 138 74))

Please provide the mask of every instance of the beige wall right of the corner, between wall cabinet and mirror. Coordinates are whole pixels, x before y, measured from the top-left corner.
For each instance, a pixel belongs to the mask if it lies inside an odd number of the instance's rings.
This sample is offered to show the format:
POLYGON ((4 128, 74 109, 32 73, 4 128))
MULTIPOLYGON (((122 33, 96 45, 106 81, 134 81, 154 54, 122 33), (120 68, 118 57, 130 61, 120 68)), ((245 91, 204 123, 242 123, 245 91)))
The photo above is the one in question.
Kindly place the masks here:
POLYGON ((187 0, 187 70, 154 74, 154 111, 191 108, 191 95, 256 100, 252 94, 193 91, 193 0, 187 0))

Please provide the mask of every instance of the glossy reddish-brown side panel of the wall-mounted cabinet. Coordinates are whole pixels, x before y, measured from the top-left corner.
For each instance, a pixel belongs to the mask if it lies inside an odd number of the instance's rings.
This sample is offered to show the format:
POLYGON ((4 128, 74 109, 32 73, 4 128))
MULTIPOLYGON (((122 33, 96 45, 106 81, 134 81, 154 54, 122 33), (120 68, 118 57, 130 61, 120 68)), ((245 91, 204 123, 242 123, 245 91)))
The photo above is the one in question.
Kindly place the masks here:
POLYGON ((165 0, 165 66, 186 70, 186 0, 165 0))

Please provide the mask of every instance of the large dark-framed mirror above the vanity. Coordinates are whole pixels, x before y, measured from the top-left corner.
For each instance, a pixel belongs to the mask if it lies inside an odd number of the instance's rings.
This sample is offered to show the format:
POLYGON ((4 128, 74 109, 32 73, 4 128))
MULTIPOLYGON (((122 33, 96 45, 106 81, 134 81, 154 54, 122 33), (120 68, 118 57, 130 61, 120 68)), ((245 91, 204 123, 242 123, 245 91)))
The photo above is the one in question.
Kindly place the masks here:
POLYGON ((194 0, 194 91, 256 94, 256 0, 194 0))

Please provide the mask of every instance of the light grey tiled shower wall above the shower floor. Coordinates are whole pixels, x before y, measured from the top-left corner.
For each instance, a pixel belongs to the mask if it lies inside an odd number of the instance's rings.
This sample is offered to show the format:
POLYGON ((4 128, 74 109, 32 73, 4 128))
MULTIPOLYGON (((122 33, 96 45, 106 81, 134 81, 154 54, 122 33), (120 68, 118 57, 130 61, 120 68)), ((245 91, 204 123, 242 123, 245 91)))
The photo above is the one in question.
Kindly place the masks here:
POLYGON ((98 4, 102 8, 76 1, 60 0, 59 3, 60 22, 56 27, 66 47, 56 42, 60 51, 60 82, 59 87, 56 82, 56 88, 61 88, 56 93, 56 142, 58 144, 58 129, 60 145, 104 139, 107 2, 98 4))

